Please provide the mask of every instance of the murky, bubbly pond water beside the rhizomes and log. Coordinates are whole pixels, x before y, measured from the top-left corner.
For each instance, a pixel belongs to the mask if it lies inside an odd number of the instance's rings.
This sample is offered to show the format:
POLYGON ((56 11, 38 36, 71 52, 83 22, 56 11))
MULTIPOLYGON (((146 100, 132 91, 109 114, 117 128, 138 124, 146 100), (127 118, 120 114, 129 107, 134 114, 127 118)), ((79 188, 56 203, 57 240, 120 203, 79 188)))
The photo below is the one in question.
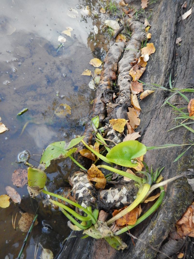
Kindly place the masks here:
MULTIPOLYGON (((0 208, 3 259, 16 258, 25 238, 26 233, 18 228, 20 211, 39 214, 39 224, 28 239, 24 258, 34 258, 39 242, 56 256, 70 232, 60 212, 43 208, 43 197, 29 198, 26 186, 17 188, 11 178, 14 170, 26 168, 16 163, 19 152, 29 150, 29 163, 37 166, 43 148, 49 143, 69 141, 83 131, 80 119, 87 117, 94 91, 88 87, 91 78, 81 73, 92 69, 88 62, 95 54, 100 55, 95 53, 92 43, 94 21, 98 25, 100 19, 94 14, 81 15, 84 5, 94 10, 92 1, 84 2, 1 0, 0 3, 0 117, 10 129, 0 135, 0 195, 6 194, 6 186, 12 186, 22 198, 21 204, 11 202, 8 208, 0 208), (69 8, 78 11, 77 18, 67 15, 69 8), (66 36, 64 47, 56 52, 58 36, 68 26, 73 28, 72 37, 66 36), (71 107, 71 115, 59 118, 54 114, 61 103, 71 107), (28 111, 17 116, 23 108, 28 111), (15 217, 17 212, 14 230, 12 215, 15 217)), ((100 49, 100 42, 96 44, 100 49)), ((68 159, 55 161, 48 169, 48 189, 56 191, 64 186, 71 168, 68 159)), ((39 246, 36 258, 41 251, 39 246)))

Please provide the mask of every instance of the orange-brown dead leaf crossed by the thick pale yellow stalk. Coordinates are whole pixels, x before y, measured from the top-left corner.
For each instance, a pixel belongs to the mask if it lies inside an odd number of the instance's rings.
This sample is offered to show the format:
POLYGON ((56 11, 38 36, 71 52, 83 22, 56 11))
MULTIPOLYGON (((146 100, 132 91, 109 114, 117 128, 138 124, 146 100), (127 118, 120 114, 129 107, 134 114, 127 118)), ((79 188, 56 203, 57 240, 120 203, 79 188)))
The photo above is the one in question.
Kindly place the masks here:
MULTIPOLYGON (((117 215, 125 208, 127 208, 127 206, 125 206, 124 208, 122 208, 120 210, 113 211, 113 216, 117 215)), ((135 222, 137 221, 138 215, 139 215, 139 206, 135 207, 132 211, 128 212, 123 217, 117 219, 116 223, 118 226, 124 226, 126 224, 134 225, 135 222)))

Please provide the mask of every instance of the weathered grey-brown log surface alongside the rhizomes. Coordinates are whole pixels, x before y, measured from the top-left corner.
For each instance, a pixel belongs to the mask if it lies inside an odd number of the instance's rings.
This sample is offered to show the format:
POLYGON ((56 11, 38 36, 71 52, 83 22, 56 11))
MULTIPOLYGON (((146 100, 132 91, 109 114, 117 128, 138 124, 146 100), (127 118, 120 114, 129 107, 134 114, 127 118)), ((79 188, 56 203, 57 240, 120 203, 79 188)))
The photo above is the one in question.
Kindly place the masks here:
MULTIPOLYGON (((151 23, 152 41, 156 48, 153 61, 149 61, 141 80, 146 83, 157 83, 169 88, 169 75, 174 80, 173 87, 193 88, 193 12, 184 21, 181 19, 180 0, 161 0, 152 5, 151 23), (181 37, 181 46, 176 44, 176 39, 181 37)), ((187 9, 192 6, 192 1, 187 1, 187 9)), ((168 97, 168 93, 163 90, 156 90, 154 94, 140 102, 141 123, 138 131, 141 132, 141 142, 146 146, 162 145, 166 143, 189 143, 188 139, 193 139, 193 134, 184 127, 179 127, 173 131, 166 132, 175 126, 174 114, 170 106, 166 105, 160 109, 162 101, 168 97)), ((192 94, 187 94, 188 98, 193 98, 192 94)), ((180 95, 175 95, 170 102, 180 103, 180 95)), ((182 105, 183 106, 183 105, 182 105)), ((180 107, 182 107, 180 106, 180 107)), ((189 149, 184 156, 173 163, 178 154, 182 153, 185 147, 174 147, 169 149, 150 150, 145 155, 145 162, 153 168, 165 166, 165 179, 173 177, 188 168, 193 168, 193 148, 189 149)), ((103 240, 92 238, 80 239, 82 233, 72 232, 66 241, 58 259, 125 259, 125 258, 156 258, 157 251, 149 245, 160 249, 161 244, 167 239, 170 229, 175 222, 186 211, 186 208, 193 201, 193 192, 188 185, 186 178, 168 184, 164 202, 152 216, 142 222, 131 233, 140 240, 132 243, 131 237, 123 234, 121 237, 128 244, 128 249, 116 251, 103 240), (74 238, 71 236, 77 236, 74 238)), ((187 248, 185 258, 194 258, 193 243, 187 248)), ((176 257, 173 257, 176 258, 176 257)))

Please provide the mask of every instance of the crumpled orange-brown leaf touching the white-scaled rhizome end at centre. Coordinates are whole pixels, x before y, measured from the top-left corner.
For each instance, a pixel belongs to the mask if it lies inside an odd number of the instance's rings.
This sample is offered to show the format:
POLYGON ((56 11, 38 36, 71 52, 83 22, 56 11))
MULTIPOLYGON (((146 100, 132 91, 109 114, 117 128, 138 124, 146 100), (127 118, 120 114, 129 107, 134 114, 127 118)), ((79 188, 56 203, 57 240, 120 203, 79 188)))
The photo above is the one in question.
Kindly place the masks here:
POLYGON ((94 164, 88 169, 88 180, 96 182, 95 188, 97 189, 104 189, 106 186, 105 176, 94 164))

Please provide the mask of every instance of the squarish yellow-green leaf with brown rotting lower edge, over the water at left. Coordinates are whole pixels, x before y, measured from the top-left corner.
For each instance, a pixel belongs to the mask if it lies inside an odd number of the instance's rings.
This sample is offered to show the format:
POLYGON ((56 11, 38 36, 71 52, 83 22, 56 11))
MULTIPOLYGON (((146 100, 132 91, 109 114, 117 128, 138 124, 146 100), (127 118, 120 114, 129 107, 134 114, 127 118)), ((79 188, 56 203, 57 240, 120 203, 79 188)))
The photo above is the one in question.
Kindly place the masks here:
POLYGON ((28 185, 30 187, 44 188, 47 180, 47 175, 44 171, 28 167, 28 185))

